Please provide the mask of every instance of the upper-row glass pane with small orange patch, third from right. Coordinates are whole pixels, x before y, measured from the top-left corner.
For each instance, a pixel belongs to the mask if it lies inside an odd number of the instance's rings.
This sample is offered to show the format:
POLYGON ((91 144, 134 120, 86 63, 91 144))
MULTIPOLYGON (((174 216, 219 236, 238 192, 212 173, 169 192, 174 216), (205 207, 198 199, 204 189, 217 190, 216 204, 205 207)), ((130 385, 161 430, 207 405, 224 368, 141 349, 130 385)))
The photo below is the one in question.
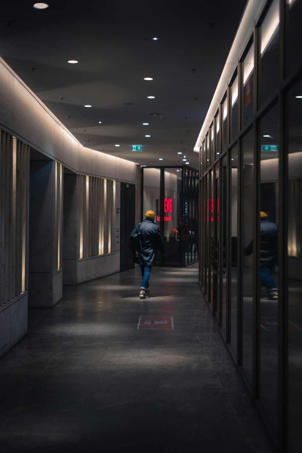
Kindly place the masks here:
POLYGON ((243 125, 253 116, 254 105, 254 43, 243 62, 243 125))

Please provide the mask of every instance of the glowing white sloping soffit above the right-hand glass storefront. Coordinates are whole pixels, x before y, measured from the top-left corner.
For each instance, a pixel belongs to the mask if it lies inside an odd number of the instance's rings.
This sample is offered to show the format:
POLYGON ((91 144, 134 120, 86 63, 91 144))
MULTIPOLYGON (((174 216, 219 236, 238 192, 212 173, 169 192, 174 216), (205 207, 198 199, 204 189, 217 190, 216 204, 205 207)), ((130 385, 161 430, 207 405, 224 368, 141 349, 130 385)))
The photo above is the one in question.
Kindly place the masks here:
POLYGON ((233 44, 230 48, 229 55, 226 59, 225 67, 223 68, 223 71, 221 73, 221 77, 219 79, 209 110, 207 111, 206 118, 203 122, 197 142, 194 146, 194 151, 197 151, 197 153, 199 152, 202 140, 205 137, 207 130, 209 129, 213 117, 216 114, 219 102, 225 94, 227 84, 228 82, 230 82, 230 79, 234 74, 238 58, 244 50, 243 46, 246 43, 246 39, 250 30, 254 26, 254 21, 257 18, 262 5, 263 0, 249 0, 248 4, 246 5, 233 44))

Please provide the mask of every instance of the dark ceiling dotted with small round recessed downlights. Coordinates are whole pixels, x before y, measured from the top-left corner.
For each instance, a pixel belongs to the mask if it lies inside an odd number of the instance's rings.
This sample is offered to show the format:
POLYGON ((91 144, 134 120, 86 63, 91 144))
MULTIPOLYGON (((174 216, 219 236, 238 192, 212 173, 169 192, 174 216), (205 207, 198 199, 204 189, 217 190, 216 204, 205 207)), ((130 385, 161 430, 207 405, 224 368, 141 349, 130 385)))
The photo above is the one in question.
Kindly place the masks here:
POLYGON ((198 169, 193 147, 245 1, 45 1, 1 5, 0 55, 18 76, 83 146, 140 165, 186 155, 198 169))

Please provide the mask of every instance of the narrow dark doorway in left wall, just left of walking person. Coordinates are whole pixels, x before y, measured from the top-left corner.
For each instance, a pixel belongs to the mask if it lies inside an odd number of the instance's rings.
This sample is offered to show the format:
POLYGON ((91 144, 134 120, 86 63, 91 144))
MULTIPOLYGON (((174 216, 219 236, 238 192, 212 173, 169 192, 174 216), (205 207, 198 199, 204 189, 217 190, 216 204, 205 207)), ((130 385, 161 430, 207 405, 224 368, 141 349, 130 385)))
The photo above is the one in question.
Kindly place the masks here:
POLYGON ((135 186, 120 183, 120 272, 132 269, 133 255, 129 250, 129 236, 135 223, 135 186))

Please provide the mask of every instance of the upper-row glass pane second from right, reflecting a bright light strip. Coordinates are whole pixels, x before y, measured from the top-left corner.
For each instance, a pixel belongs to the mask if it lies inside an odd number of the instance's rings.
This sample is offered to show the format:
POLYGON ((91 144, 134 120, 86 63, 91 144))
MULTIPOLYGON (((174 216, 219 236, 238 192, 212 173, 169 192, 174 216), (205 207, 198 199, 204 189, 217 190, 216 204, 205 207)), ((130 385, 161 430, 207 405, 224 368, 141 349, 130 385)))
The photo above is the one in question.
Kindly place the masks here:
POLYGON ((260 102, 272 94, 279 83, 279 0, 273 0, 261 25, 260 102))

